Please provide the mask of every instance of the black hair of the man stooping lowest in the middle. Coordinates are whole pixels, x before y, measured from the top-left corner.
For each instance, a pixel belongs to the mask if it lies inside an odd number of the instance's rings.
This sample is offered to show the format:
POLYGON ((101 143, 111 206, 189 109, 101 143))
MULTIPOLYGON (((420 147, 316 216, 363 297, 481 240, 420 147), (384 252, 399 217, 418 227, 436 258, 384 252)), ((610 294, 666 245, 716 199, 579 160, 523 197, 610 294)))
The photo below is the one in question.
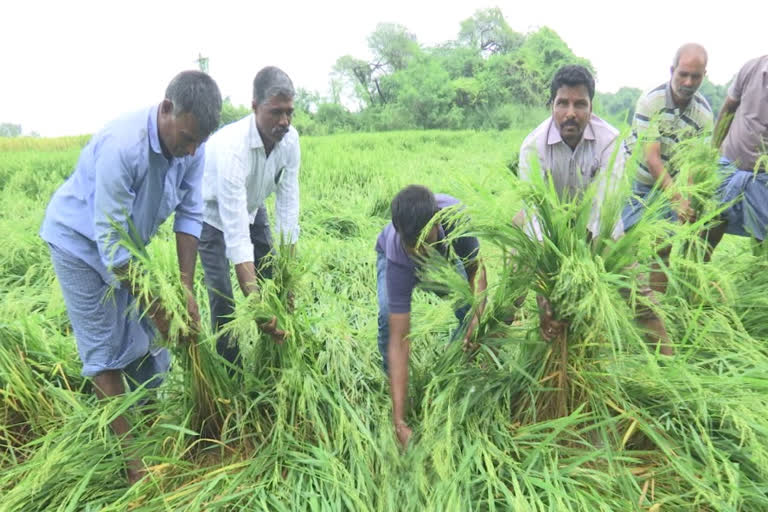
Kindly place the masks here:
POLYGON ((406 246, 414 247, 421 230, 437 213, 437 200, 427 187, 409 185, 397 193, 392 204, 392 225, 406 246))

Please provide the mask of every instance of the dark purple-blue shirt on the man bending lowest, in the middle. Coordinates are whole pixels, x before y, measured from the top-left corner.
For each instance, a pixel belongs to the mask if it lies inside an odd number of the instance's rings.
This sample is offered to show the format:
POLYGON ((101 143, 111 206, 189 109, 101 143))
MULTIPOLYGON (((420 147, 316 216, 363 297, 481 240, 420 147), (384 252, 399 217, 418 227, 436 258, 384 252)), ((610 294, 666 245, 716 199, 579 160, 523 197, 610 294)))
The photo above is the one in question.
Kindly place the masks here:
MULTIPOLYGON (((439 209, 459 203, 458 199, 447 194, 435 194, 435 199, 439 209)), ((438 241, 443 240, 453 229, 453 225, 441 225, 438 232, 438 241)), ((479 246, 477 238, 473 236, 457 238, 452 243, 456 255, 463 261, 476 258, 479 246)), ((438 243, 437 248, 441 253, 447 253, 447 247, 443 244, 438 243)), ((413 289, 419 283, 419 279, 416 276, 418 265, 405 251, 400 235, 391 222, 379 233, 379 237, 376 240, 376 251, 384 254, 387 258, 389 312, 410 313, 413 289)))

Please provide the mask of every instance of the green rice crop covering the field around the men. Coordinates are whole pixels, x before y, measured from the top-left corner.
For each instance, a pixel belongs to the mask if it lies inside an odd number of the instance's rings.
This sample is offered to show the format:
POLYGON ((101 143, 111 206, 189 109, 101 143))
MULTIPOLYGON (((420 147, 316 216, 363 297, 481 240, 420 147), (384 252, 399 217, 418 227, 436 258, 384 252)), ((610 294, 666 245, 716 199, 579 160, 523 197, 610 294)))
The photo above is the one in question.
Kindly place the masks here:
MULTIPOLYGON (((194 352, 174 349, 180 364, 147 414, 138 405, 146 391, 98 404, 79 376, 37 236, 82 140, 0 141, 0 510, 768 509, 766 258, 730 238, 710 265, 676 250, 658 311, 677 355, 657 357, 618 289, 634 286, 626 264, 639 260, 643 270, 666 227, 649 220, 623 242, 587 244, 578 235, 582 210, 509 171, 524 135, 303 138, 298 260, 282 262, 294 272, 295 313, 281 309, 280 286, 265 287, 266 307, 239 299, 232 328, 244 340, 242 380, 224 377, 205 335, 194 352), (467 229, 480 236, 488 266, 489 307, 469 361, 448 342, 451 299, 416 293, 415 442, 401 453, 376 348, 373 246, 389 201, 410 183, 467 204, 467 229), (508 225, 523 200, 550 208, 545 222, 557 244, 532 244, 508 225), (504 326, 499 316, 522 291, 531 293, 519 322, 504 326), (550 294, 572 322, 567 408, 546 419, 562 390, 546 379, 557 359, 538 336, 533 291, 550 294), (254 322, 270 312, 289 331, 281 346, 254 322), (108 426, 121 413, 149 468, 132 488, 108 426)), ((692 230, 669 236, 681 248, 692 230)), ((166 297, 178 293, 174 250, 166 225, 145 267, 146 286, 166 297)), ((454 300, 466 296, 450 273, 436 272, 454 300)), ((199 266, 197 281, 207 333, 199 266)))

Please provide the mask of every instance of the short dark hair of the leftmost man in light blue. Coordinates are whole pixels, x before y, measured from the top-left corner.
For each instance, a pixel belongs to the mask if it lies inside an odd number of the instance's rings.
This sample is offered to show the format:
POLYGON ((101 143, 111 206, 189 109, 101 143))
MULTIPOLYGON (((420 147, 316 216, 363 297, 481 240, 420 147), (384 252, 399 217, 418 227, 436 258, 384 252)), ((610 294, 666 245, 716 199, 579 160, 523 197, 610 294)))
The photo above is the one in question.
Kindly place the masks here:
POLYGON ((165 98, 173 103, 174 116, 195 116, 204 138, 219 126, 221 92, 213 78, 202 71, 182 71, 173 77, 165 89, 165 98))

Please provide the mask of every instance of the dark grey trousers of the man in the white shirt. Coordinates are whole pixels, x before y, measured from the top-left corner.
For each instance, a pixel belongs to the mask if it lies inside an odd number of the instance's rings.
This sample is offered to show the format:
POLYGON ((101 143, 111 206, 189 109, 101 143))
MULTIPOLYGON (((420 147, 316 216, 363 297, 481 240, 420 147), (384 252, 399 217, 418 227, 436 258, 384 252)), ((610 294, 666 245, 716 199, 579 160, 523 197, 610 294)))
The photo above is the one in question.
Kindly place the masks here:
MULTIPOLYGON (((272 267, 266 261, 266 257, 272 252, 272 233, 269 229, 266 208, 259 208, 253 224, 250 225, 250 233, 256 277, 260 280, 271 279, 272 267)), ((224 233, 210 224, 203 223, 198 252, 205 273, 205 286, 208 289, 211 327, 214 332, 218 332, 224 324, 231 320, 232 314, 235 312, 224 233)), ((241 365, 237 341, 230 339, 230 336, 219 336, 216 341, 216 351, 230 363, 241 365)))

